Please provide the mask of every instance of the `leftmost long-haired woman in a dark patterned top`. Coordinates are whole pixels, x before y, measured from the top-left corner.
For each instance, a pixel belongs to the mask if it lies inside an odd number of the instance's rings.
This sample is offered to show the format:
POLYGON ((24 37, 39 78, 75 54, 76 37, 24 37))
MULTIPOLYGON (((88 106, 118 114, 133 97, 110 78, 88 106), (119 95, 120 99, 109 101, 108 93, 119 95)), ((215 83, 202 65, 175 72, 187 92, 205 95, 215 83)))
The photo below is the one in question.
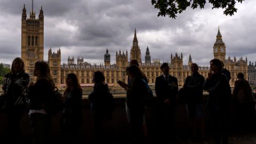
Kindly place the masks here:
POLYGON ((6 99, 7 141, 16 143, 20 140, 20 121, 26 110, 27 86, 29 75, 25 73, 24 62, 15 58, 11 72, 4 77, 3 90, 6 99))

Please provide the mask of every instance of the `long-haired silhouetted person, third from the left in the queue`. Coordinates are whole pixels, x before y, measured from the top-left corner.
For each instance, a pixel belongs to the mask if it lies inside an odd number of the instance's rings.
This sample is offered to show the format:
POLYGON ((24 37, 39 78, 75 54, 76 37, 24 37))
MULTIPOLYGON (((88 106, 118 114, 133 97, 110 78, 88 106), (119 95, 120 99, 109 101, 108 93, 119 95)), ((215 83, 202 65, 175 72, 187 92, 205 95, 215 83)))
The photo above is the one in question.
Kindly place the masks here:
POLYGON ((83 123, 82 95, 83 90, 73 73, 67 75, 67 87, 64 92, 65 101, 61 116, 61 136, 66 143, 79 143, 79 127, 83 123))

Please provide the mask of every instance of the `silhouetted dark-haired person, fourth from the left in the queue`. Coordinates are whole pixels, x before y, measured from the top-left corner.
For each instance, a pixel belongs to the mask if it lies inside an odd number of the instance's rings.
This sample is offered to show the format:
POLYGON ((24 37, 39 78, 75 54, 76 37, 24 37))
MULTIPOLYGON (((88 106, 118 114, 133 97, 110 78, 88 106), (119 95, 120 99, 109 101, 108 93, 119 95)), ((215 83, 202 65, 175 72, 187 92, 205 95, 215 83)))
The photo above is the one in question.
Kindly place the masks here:
POLYGON ((91 110, 94 118, 94 135, 95 141, 106 142, 104 139, 104 120, 111 119, 108 84, 105 83, 105 76, 101 71, 95 71, 93 74, 93 91, 89 94, 91 110))

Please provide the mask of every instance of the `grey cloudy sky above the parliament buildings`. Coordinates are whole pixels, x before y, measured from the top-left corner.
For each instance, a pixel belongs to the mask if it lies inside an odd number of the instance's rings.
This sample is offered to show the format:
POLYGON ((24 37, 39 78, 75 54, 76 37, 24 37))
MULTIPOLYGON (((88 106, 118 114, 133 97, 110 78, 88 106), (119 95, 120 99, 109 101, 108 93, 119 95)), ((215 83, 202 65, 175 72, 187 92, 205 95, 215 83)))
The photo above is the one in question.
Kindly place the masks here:
MULTIPOLYGON (((31 0, 0 0, 0 62, 11 64, 21 57, 21 13, 26 5, 27 15, 31 0)), ((187 9, 177 19, 157 17, 157 9, 150 0, 34 0, 38 17, 44 11, 44 59, 50 47, 60 47, 61 61, 68 55, 81 55, 89 63, 103 63, 106 48, 115 63, 116 51, 130 53, 134 28, 145 60, 146 47, 151 59, 170 61, 171 53, 183 53, 183 64, 189 54, 193 62, 209 65, 213 58, 213 44, 220 26, 226 44, 226 57, 247 56, 256 61, 256 1, 236 4, 237 13, 223 15, 222 9, 187 9)), ((129 54, 130 59, 130 54, 129 54)))

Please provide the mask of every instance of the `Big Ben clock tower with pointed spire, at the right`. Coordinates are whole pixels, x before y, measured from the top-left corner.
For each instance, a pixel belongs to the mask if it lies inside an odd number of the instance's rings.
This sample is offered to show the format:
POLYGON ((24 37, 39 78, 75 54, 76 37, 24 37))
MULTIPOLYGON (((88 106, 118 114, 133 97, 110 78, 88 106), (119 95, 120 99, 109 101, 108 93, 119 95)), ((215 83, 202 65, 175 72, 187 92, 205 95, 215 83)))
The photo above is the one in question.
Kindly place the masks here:
POLYGON ((216 36, 216 42, 213 45, 213 55, 214 55, 214 59, 219 59, 219 60, 225 62, 226 45, 222 41, 222 36, 220 34, 220 28, 218 29, 218 34, 216 36))

